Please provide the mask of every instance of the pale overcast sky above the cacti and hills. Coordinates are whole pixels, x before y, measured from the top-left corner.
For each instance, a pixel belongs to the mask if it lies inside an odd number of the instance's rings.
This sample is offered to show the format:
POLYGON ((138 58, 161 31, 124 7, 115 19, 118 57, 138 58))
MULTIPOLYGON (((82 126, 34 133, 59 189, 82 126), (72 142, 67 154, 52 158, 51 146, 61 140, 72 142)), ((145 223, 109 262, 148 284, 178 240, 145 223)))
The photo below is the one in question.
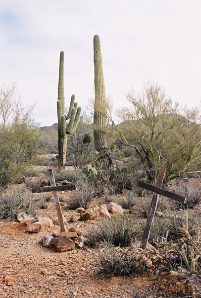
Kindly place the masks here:
POLYGON ((107 95, 157 81, 173 101, 201 100, 201 0, 0 0, 0 85, 16 82, 23 103, 38 102, 41 126, 57 122, 60 51, 65 105, 94 94, 93 37, 101 39, 107 95))

